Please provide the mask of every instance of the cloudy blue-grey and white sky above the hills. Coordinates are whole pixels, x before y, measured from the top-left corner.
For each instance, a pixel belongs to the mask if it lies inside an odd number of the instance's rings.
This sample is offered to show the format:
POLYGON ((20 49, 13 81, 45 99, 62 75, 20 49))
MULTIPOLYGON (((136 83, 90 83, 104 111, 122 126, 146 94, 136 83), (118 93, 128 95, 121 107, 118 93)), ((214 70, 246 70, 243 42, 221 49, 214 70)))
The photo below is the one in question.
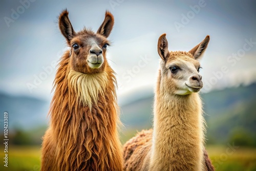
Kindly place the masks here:
POLYGON ((189 51, 210 35, 201 60, 203 93, 256 81, 253 1, 5 0, 0 2, 0 92, 51 98, 56 63, 68 50, 57 19, 66 8, 75 31, 96 32, 105 10, 114 15, 107 58, 120 97, 154 89, 163 33, 169 51, 189 51))

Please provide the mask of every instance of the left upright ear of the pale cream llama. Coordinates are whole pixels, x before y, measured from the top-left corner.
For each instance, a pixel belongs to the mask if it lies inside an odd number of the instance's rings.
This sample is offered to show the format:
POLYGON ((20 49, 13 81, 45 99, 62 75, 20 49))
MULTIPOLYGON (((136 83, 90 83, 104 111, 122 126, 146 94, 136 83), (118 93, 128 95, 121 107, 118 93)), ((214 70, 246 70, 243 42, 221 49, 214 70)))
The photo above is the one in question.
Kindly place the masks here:
POLYGON ((163 60, 166 60, 169 57, 168 41, 165 36, 166 34, 164 33, 159 37, 157 45, 158 54, 163 60))

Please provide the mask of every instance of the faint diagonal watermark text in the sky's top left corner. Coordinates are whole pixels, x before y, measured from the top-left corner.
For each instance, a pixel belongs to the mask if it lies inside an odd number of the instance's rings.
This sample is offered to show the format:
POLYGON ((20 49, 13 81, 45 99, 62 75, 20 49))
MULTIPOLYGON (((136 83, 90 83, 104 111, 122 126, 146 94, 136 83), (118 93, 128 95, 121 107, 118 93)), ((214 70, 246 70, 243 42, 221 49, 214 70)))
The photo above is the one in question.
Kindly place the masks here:
POLYGON ((9 17, 8 16, 4 17, 7 27, 9 28, 10 24, 14 23, 15 20, 17 20, 19 16, 23 14, 26 11, 26 9, 30 7, 31 3, 34 3, 35 1, 36 0, 20 0, 19 1, 20 5, 15 9, 13 8, 11 9, 11 15, 9 17))

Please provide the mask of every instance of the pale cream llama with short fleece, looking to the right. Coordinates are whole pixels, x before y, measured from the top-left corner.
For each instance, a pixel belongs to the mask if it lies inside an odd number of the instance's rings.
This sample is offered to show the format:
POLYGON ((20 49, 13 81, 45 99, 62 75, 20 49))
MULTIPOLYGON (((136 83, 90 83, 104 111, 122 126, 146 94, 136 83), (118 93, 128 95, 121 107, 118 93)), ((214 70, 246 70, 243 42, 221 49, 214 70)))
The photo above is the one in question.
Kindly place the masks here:
POLYGON ((203 87, 198 59, 209 36, 189 52, 169 52, 162 34, 154 99, 154 128, 123 146, 124 170, 214 170, 204 149, 203 87))

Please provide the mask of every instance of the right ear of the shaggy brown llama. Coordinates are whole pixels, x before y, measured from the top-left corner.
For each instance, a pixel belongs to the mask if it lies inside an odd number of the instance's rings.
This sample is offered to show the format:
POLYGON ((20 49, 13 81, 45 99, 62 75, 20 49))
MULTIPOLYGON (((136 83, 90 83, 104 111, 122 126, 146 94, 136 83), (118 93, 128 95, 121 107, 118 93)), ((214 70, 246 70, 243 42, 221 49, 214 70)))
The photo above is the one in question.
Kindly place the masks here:
POLYGON ((99 27, 97 33, 104 36, 104 37, 109 37, 112 29, 114 26, 114 16, 109 12, 105 12, 105 19, 101 26, 99 27))

